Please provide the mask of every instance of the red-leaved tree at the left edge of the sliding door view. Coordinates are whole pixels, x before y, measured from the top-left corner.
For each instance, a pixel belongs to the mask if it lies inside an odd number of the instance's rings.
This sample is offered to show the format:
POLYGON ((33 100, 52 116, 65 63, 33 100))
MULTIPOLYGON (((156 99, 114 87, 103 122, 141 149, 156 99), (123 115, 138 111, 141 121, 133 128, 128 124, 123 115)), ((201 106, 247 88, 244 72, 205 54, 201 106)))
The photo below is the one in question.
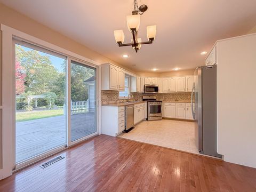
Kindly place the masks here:
POLYGON ((16 95, 22 94, 25 91, 25 77, 26 74, 22 72, 23 67, 20 66, 20 63, 15 61, 15 93, 16 95))

